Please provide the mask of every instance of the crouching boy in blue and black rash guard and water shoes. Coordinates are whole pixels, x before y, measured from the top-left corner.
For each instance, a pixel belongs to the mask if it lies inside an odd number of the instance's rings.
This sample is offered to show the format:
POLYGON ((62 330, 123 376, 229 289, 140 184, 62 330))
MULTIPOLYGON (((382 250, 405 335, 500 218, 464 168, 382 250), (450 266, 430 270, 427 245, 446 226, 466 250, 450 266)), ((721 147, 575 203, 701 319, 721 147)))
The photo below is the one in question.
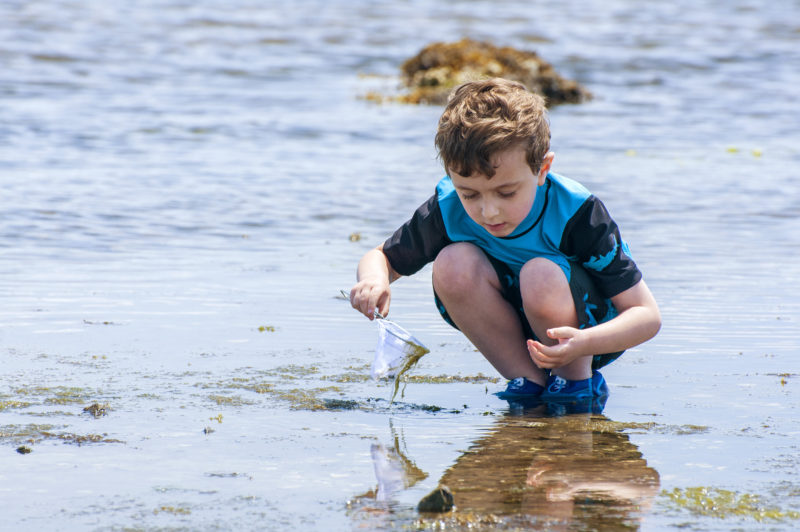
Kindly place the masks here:
POLYGON ((504 79, 457 88, 436 147, 445 176, 358 265, 373 319, 389 284, 433 261, 439 312, 505 378, 505 399, 604 398, 600 367, 655 336, 658 306, 603 204, 550 173, 544 100, 504 79))

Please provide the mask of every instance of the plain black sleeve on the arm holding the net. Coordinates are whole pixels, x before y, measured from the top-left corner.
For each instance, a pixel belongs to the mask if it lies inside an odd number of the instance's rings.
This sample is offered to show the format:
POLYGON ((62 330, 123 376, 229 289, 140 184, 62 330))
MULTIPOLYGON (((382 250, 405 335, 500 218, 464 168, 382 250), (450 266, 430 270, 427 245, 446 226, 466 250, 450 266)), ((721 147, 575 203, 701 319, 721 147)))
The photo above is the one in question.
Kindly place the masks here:
POLYGON ((397 273, 412 275, 432 262, 450 243, 434 194, 383 243, 383 253, 397 273))

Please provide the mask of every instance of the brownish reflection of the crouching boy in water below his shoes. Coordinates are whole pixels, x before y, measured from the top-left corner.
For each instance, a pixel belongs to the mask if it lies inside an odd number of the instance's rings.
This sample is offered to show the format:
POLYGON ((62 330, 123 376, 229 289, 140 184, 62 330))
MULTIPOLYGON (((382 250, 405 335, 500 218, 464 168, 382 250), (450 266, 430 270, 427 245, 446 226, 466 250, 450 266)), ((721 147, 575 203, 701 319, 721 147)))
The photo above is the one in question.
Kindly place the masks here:
POLYGON ((502 419, 441 483, 459 514, 534 517, 549 530, 620 530, 636 526, 659 476, 603 416, 524 416, 502 419))

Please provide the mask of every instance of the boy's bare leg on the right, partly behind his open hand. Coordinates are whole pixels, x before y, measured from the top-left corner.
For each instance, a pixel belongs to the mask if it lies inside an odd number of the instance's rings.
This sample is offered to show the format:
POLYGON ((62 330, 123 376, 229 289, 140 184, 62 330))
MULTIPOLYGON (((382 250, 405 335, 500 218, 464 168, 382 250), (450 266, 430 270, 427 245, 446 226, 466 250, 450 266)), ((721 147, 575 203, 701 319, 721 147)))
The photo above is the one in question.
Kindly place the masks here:
MULTIPOLYGON (((579 326, 569 283, 558 264, 541 257, 531 259, 522 267, 519 282, 525 315, 540 342, 557 343, 547 336, 547 329, 579 326)), ((581 357, 555 368, 553 373, 568 380, 588 379, 592 376, 592 357, 581 357)))

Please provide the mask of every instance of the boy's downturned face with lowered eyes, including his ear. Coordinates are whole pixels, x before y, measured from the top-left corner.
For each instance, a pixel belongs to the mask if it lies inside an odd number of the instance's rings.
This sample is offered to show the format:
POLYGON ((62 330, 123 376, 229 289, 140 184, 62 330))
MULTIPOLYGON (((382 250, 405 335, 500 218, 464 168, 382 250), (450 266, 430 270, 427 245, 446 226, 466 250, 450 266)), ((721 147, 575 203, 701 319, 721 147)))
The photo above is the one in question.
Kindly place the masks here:
POLYGON ((475 223, 493 236, 508 236, 522 223, 533 206, 536 188, 544 183, 553 153, 545 156, 538 174, 525 160, 525 149, 510 148, 492 157, 495 174, 491 179, 483 174, 470 177, 450 172, 464 210, 475 223))

